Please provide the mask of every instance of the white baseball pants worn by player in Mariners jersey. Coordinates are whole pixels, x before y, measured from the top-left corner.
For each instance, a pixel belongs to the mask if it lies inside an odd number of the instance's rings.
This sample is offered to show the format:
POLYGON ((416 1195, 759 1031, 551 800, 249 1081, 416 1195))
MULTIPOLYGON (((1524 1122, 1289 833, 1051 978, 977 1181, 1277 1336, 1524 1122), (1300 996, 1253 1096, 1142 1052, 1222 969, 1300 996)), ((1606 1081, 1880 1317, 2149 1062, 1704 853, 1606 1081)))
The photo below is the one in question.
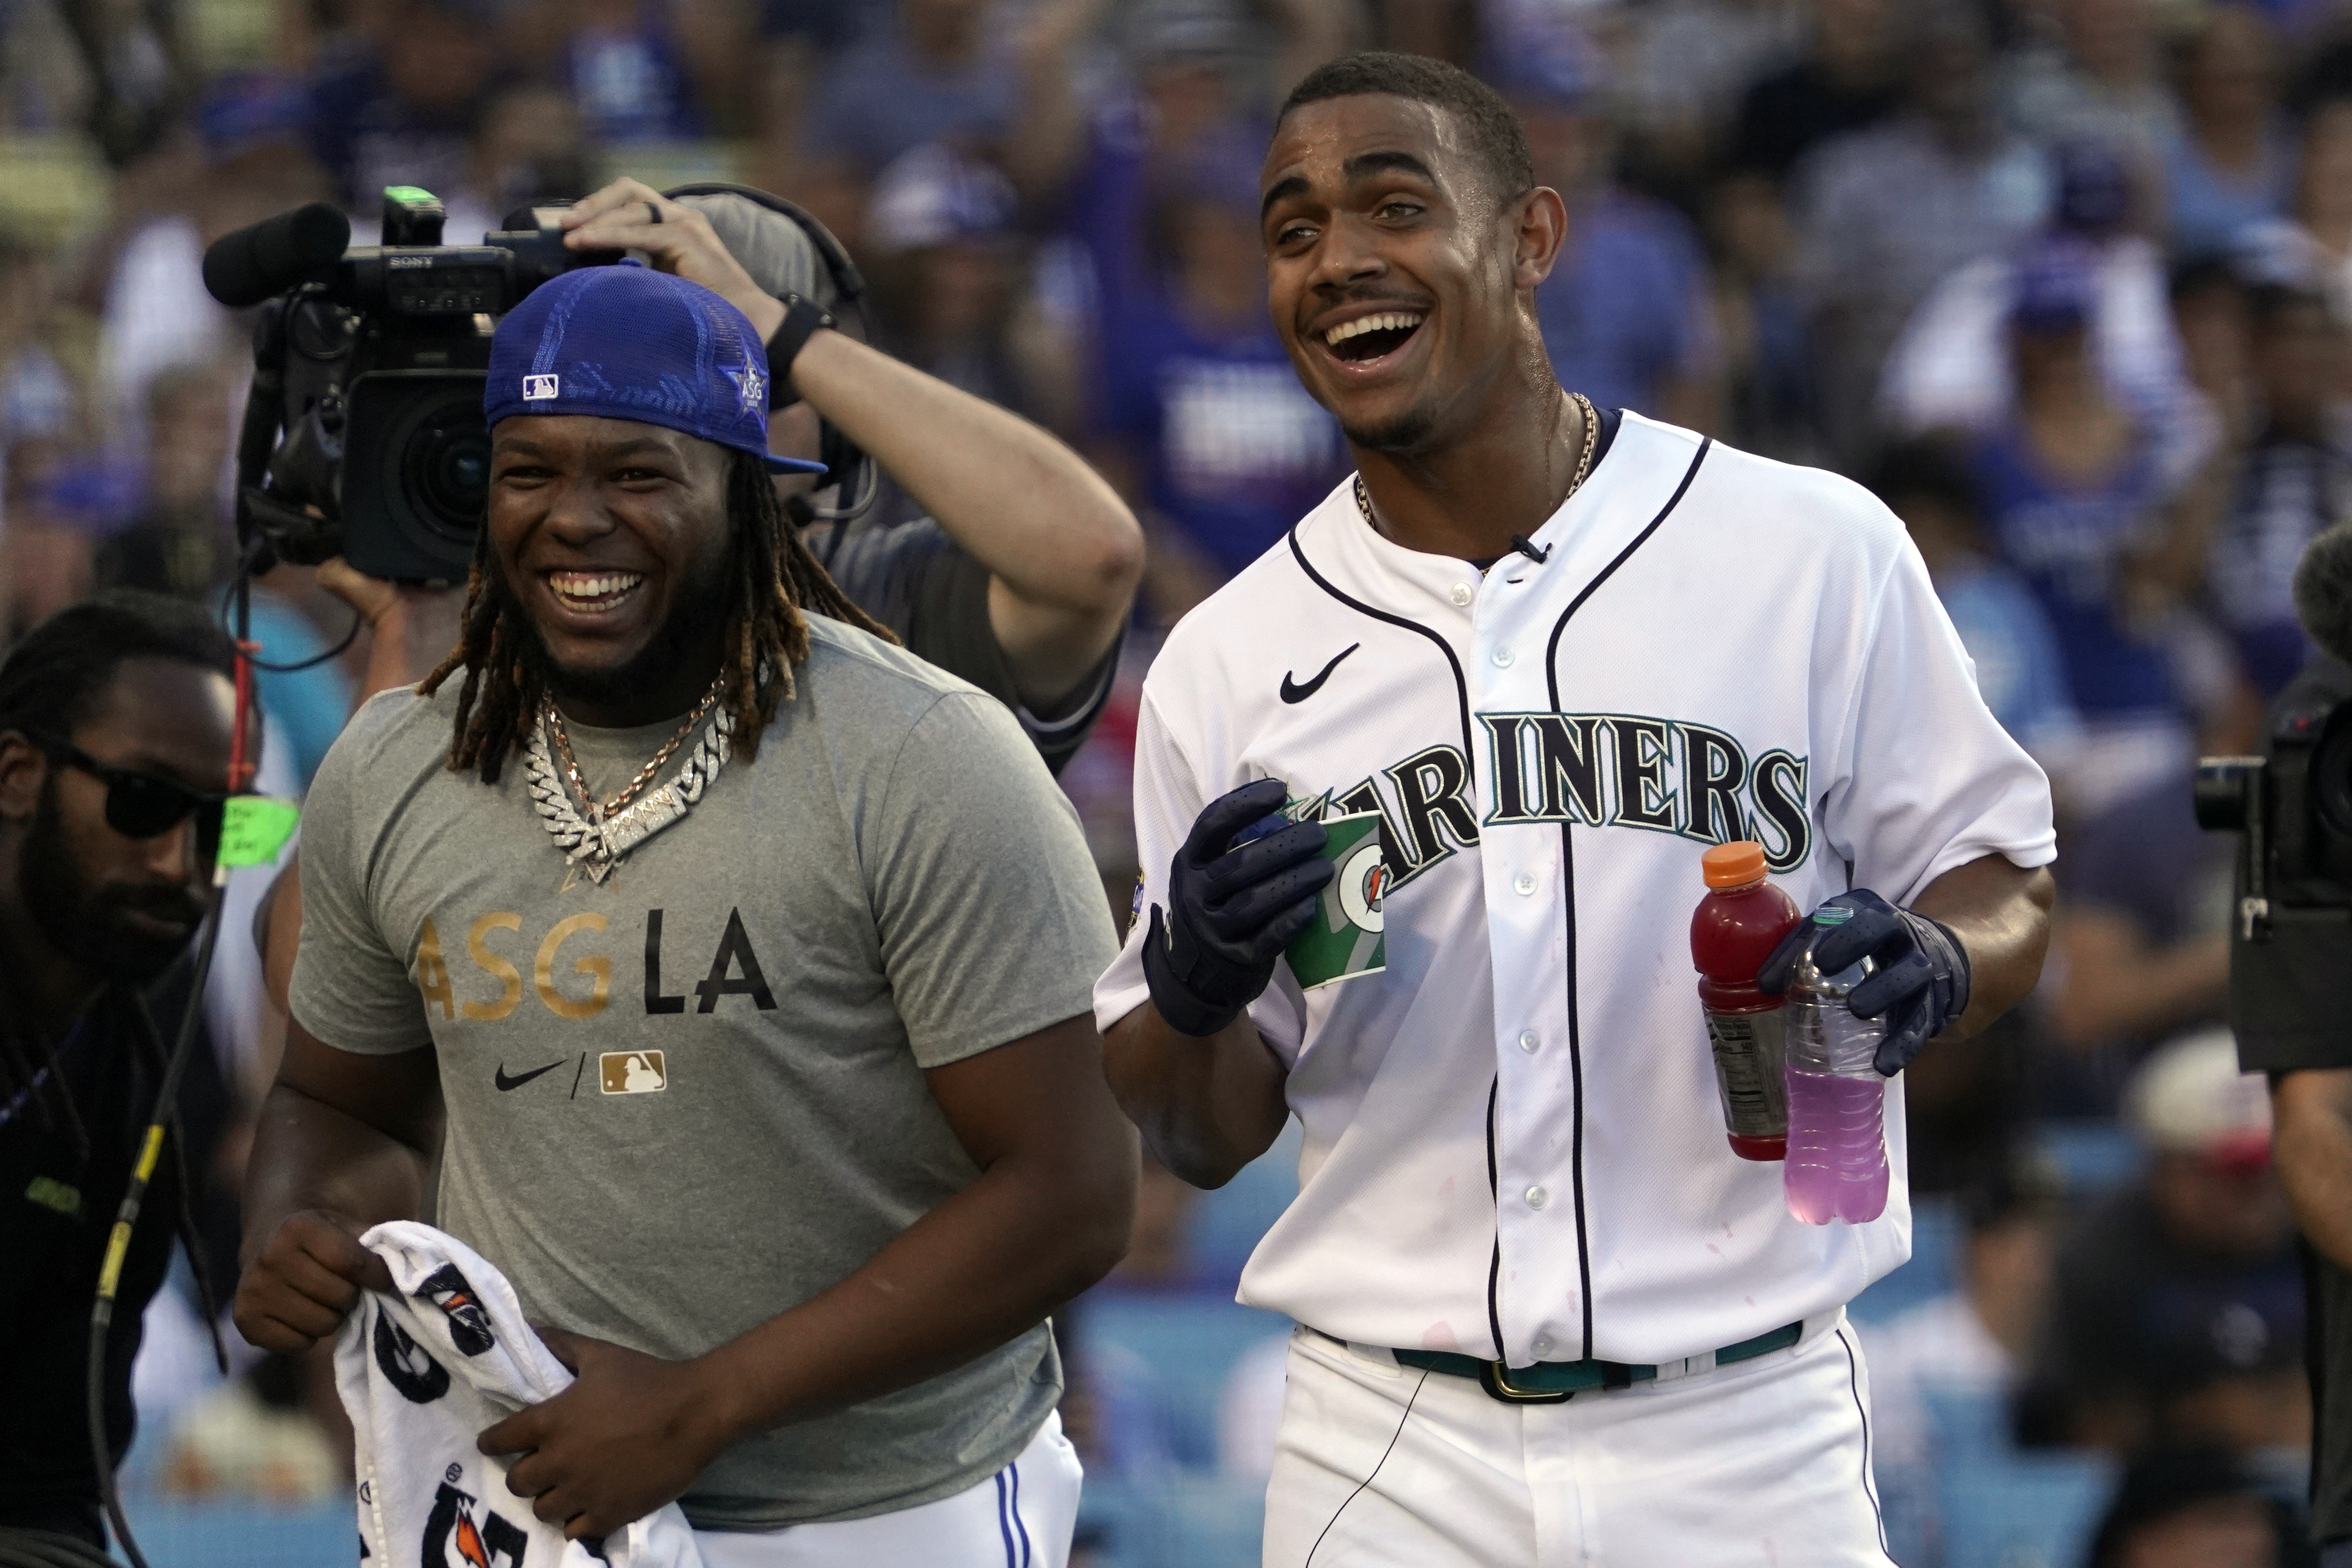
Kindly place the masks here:
POLYGON ((1844 1314, 1550 1406, 1301 1328, 1265 1568, 1889 1568, 1867 1410, 1844 1314))

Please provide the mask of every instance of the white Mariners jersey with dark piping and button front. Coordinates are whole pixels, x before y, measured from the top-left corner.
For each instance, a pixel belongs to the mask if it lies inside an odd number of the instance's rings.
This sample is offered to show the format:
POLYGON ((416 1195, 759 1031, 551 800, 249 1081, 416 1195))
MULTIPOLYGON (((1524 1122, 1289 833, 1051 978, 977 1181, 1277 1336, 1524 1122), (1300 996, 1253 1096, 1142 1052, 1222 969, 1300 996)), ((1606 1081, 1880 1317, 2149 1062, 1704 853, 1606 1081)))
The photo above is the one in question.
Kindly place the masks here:
MULTIPOLYGON (((1738 1159, 1691 910, 1752 837, 1811 910, 1907 903, 1985 853, 2053 858, 1917 550, 1828 473, 1625 414, 1484 578, 1336 489, 1183 618, 1143 682, 1141 905, 1204 804, 1282 778, 1378 809, 1388 969, 1249 1009, 1289 1067, 1301 1192, 1242 1300, 1364 1345, 1656 1363, 1830 1312, 1910 1255, 1903 1091, 1886 1213, 1813 1227, 1738 1159)), ((1096 985, 1150 999, 1138 919, 1096 985)))

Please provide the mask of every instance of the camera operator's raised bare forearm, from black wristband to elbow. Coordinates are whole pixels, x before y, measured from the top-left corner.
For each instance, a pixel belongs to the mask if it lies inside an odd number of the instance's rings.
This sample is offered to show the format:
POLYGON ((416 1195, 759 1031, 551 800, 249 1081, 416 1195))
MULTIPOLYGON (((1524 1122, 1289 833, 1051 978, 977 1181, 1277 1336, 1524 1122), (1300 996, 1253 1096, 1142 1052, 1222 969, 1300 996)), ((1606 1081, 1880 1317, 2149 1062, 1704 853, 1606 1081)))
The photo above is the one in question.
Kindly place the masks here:
POLYGON ((988 567, 988 618, 1021 698, 1054 703, 1103 658, 1143 578, 1143 529, 1042 428, 837 331, 793 388, 988 567))

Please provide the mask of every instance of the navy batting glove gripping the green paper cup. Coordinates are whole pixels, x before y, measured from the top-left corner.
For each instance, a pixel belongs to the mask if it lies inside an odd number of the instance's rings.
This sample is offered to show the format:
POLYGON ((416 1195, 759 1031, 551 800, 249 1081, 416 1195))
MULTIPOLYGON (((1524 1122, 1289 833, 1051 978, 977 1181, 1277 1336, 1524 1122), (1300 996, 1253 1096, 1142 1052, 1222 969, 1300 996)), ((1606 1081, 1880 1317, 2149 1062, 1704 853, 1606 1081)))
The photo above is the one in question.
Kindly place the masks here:
POLYGON ((1334 875, 1322 858, 1327 835, 1322 823, 1284 820, 1289 797, 1279 778, 1221 795, 1169 865, 1169 910, 1162 919, 1152 905, 1143 978, 1178 1034, 1207 1037, 1232 1023, 1315 919, 1315 896, 1334 875))

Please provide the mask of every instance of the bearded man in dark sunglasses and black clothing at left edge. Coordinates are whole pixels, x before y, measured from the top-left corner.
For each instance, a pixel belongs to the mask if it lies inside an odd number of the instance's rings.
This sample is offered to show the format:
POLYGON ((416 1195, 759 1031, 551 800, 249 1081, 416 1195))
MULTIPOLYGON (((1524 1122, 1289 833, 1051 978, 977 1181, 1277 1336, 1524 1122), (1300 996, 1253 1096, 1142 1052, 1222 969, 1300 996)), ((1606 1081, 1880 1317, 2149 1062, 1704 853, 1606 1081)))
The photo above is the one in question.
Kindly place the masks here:
MULTIPOLYGON (((143 592, 64 609, 0 663, 0 1542, 54 1530, 103 1544, 89 1300, 155 1114, 191 980, 181 959, 214 898, 230 668, 202 609, 143 592)), ((200 1048, 181 1091, 193 1138, 167 1143, 115 1298, 115 1462, 132 1443, 141 1314, 174 1232, 195 1234, 188 1173, 209 1164, 221 1103, 200 1048)))

